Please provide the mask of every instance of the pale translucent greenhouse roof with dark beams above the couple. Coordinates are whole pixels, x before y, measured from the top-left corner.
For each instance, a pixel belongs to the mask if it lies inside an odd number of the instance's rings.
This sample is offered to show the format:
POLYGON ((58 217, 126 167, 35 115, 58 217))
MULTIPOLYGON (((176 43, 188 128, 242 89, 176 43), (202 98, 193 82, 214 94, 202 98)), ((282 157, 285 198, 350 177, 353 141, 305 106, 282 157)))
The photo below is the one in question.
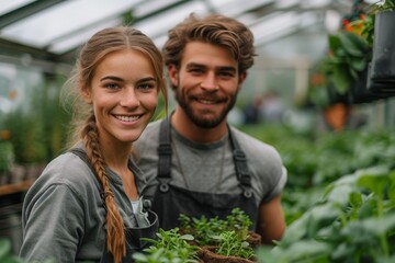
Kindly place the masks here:
MULTIPOLYGON (((353 0, 1 0, 0 60, 70 64, 100 28, 127 24, 158 46, 191 12, 223 13, 250 26, 263 46, 308 27, 338 27, 353 0)), ((297 52, 297 50, 295 50, 297 52)), ((46 65, 48 68, 52 66, 46 65)))

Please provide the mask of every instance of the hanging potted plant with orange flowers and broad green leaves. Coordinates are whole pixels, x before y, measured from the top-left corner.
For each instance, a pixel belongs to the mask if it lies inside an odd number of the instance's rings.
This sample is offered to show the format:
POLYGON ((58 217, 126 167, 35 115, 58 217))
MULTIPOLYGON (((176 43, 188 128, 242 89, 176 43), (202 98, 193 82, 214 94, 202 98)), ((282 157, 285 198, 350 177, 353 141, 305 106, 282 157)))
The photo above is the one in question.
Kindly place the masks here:
POLYGON ((387 98, 369 88, 375 24, 369 7, 356 1, 340 31, 329 35, 329 54, 324 60, 328 83, 335 87, 328 87, 329 99, 343 99, 335 102, 358 104, 387 98))

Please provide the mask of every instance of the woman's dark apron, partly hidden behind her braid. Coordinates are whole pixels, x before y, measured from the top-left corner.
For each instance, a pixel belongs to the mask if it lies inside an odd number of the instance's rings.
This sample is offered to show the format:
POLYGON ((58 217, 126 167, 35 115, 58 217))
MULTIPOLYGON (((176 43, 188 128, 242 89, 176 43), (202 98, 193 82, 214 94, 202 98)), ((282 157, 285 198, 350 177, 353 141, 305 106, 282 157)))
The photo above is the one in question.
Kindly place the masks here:
MULTIPOLYGON (((80 148, 72 148, 69 151, 77 155, 79 158, 81 158, 82 161, 84 161, 90 169, 92 169, 90 161, 87 157, 87 153, 80 149, 80 148)), ((94 171, 94 170, 92 170, 94 171)), ((94 172, 93 172, 94 173, 94 172)), ((95 178, 97 179, 97 178, 95 178)), ((99 181, 94 181, 99 190, 102 188, 99 181)), ((103 195, 102 195, 103 196, 103 195)), ((104 197, 103 197, 103 204, 105 204, 104 197)), ((148 203, 145 203, 145 205, 148 203)), ((151 242, 142 240, 142 238, 148 238, 148 239, 157 239, 157 232, 159 228, 159 220, 156 213, 150 210, 150 207, 144 206, 145 210, 148 211, 148 220, 150 225, 148 227, 143 228, 126 228, 125 229, 125 239, 126 239, 126 255, 122 259, 122 263, 132 263, 132 254, 135 252, 144 252, 144 249, 147 249, 149 245, 151 245, 151 242)), ((105 205, 104 205, 104 209, 105 205)), ((106 245, 104 243, 104 249, 102 253, 102 258, 100 260, 101 263, 113 263, 113 255, 109 253, 106 250, 106 245)))

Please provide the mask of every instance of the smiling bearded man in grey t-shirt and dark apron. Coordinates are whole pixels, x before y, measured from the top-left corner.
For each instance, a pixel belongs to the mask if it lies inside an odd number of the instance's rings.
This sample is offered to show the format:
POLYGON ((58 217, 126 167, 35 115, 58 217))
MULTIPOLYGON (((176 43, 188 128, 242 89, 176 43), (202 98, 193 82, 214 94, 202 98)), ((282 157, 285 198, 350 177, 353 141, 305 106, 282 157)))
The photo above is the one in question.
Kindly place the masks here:
POLYGON ((162 52, 178 104, 135 142, 160 227, 178 227, 180 214, 224 218, 240 207, 264 243, 280 240, 281 158, 226 121, 253 65, 252 33, 230 18, 191 14, 169 31, 162 52))

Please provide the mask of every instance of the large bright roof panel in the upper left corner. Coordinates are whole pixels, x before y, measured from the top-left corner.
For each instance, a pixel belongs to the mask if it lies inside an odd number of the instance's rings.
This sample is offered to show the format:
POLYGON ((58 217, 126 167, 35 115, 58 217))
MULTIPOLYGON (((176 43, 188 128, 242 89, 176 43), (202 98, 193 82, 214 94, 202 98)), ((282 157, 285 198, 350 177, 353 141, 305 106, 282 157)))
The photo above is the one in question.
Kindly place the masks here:
POLYGON ((138 2, 95 0, 93 9, 90 0, 65 1, 4 27, 2 36, 42 48, 81 28, 113 20, 138 2))

